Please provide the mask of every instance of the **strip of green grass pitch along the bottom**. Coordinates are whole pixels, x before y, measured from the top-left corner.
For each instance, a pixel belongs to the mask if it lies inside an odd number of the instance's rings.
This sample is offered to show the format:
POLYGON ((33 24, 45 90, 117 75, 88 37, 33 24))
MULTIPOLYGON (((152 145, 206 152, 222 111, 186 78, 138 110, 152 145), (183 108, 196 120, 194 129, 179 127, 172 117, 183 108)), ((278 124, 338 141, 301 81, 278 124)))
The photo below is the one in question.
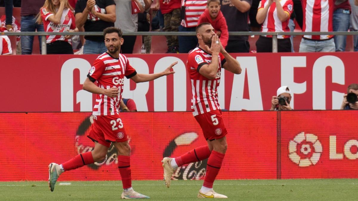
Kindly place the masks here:
MULTIPOLYGON (((150 200, 198 200, 203 181, 133 181, 135 191, 150 200)), ((58 182, 50 192, 47 182, 0 182, 0 200, 118 200, 121 181, 58 182)), ((358 180, 218 180, 214 190, 228 200, 358 200, 358 180)))

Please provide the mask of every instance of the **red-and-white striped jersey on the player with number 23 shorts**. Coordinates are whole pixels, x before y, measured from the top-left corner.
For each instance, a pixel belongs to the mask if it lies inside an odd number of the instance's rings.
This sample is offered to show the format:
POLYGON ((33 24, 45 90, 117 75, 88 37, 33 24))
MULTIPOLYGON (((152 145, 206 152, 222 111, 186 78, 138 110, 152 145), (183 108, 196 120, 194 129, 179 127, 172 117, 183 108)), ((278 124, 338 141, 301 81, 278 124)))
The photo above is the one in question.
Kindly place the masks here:
POLYGON ((129 64, 125 55, 119 54, 118 58, 113 58, 107 52, 97 57, 93 63, 87 77, 95 82, 102 89, 118 88, 118 96, 108 97, 104 94, 96 94, 96 104, 93 107, 93 115, 115 115, 119 114, 120 100, 123 93, 124 77, 131 78, 137 72, 129 64))

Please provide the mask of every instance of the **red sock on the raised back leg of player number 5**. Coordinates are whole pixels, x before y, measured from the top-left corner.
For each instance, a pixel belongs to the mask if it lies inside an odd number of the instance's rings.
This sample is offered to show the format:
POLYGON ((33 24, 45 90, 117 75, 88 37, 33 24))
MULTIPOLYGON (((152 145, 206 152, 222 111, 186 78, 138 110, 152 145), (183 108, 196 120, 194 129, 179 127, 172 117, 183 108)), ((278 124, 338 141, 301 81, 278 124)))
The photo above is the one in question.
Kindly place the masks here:
POLYGON ((209 146, 202 146, 175 158, 176 164, 180 167, 184 164, 202 161, 210 156, 209 146))

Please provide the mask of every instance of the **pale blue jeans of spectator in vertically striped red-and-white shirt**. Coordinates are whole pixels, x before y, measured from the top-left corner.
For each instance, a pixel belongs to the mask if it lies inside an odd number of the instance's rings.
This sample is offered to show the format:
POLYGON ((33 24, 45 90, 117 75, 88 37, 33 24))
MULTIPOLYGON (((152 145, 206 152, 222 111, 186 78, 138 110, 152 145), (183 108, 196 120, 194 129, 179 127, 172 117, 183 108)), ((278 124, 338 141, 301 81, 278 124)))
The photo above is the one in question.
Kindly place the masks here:
POLYGON ((333 38, 329 40, 308 40, 302 38, 299 52, 334 52, 333 38))

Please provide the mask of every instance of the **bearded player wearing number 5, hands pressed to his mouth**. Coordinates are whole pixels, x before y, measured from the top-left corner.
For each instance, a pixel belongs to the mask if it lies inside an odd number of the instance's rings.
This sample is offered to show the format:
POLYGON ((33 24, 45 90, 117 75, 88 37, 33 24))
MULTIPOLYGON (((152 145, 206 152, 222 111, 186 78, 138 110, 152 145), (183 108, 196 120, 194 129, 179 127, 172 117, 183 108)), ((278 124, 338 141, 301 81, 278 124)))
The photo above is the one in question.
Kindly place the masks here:
POLYGON ((227 198, 213 190, 214 180, 227 149, 225 137, 227 131, 218 103, 217 89, 220 83, 221 68, 240 74, 241 67, 237 60, 225 51, 211 24, 199 24, 196 33, 199 47, 189 53, 187 70, 192 83, 193 115, 202 128, 208 144, 176 158, 163 158, 164 180, 169 188, 176 168, 209 158, 204 184, 199 190, 198 197, 227 198))

